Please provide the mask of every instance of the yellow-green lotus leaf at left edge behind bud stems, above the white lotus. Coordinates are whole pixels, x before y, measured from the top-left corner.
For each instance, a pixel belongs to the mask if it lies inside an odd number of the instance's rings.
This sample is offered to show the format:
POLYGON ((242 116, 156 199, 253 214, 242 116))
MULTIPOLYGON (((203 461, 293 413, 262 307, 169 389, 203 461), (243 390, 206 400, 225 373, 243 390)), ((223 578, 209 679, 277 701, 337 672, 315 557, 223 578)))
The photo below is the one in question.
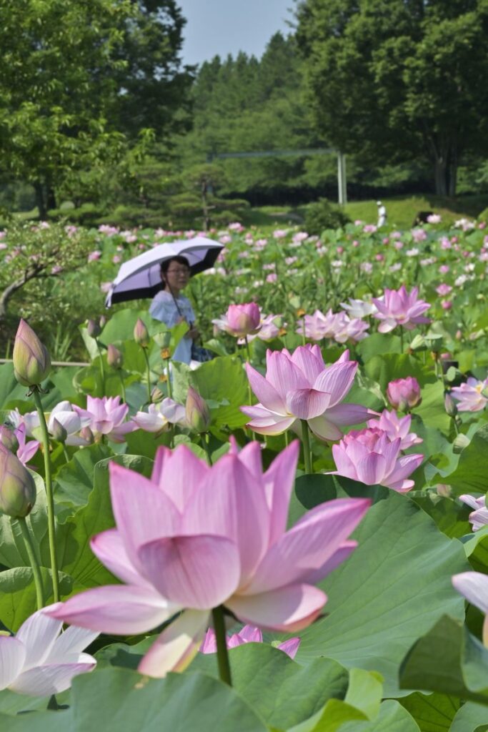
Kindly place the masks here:
MULTIPOLYGON (((50 569, 41 567, 45 605, 53 602, 53 582, 50 569)), ((73 580, 63 572, 59 575, 61 597, 70 594, 73 580)), ((0 623, 16 632, 23 621, 37 610, 36 588, 30 567, 14 567, 0 572, 0 623)))

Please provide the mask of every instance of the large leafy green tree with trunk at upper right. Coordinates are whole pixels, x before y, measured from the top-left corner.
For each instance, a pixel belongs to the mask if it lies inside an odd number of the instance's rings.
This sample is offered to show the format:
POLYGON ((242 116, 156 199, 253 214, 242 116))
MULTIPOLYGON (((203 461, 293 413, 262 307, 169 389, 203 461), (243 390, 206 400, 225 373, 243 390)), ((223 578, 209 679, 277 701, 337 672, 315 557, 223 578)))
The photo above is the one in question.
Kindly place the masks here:
POLYGON ((454 195, 488 152, 487 0, 301 0, 297 40, 318 130, 372 165, 426 157, 454 195))

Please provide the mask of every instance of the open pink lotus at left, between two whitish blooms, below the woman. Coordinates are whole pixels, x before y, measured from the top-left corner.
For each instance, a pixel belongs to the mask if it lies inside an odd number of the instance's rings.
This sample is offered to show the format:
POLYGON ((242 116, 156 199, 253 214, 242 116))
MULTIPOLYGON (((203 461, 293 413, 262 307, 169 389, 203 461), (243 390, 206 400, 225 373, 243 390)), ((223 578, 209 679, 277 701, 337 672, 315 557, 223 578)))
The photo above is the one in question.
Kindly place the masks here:
POLYGON ((134 422, 124 422, 129 407, 120 397, 86 397, 86 409, 73 405, 84 425, 90 427, 95 438, 106 435, 112 442, 124 442, 127 433, 135 430, 134 422))

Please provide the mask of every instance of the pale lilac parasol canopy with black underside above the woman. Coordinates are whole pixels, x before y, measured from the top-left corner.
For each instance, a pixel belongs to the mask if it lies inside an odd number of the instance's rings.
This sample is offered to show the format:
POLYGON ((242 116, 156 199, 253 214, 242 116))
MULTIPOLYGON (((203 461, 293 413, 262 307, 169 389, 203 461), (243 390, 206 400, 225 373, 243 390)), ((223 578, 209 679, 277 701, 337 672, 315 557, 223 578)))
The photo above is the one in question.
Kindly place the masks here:
POLYGON ((157 247, 121 264, 119 274, 113 280, 105 299, 105 307, 115 305, 116 302, 154 297, 162 289, 159 267, 165 260, 176 256, 186 257, 192 277, 213 266, 223 247, 223 244, 206 239, 205 236, 158 244, 157 247))

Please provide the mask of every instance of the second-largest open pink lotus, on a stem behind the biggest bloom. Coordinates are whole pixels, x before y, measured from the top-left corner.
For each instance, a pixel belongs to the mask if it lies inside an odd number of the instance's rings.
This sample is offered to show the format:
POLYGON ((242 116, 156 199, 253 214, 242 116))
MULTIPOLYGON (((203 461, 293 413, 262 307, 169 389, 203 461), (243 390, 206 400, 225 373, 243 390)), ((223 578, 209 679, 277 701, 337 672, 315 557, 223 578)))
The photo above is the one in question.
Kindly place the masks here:
POLYGON ((266 377, 246 364, 252 391, 260 402, 241 407, 252 418, 248 426, 261 435, 279 435, 297 419, 307 419, 319 438, 338 440, 342 437, 339 425, 359 425, 376 414, 359 404, 341 404, 357 368, 357 362, 349 360, 349 351, 327 367, 318 346, 299 346, 293 354, 286 348, 267 351, 266 377))

